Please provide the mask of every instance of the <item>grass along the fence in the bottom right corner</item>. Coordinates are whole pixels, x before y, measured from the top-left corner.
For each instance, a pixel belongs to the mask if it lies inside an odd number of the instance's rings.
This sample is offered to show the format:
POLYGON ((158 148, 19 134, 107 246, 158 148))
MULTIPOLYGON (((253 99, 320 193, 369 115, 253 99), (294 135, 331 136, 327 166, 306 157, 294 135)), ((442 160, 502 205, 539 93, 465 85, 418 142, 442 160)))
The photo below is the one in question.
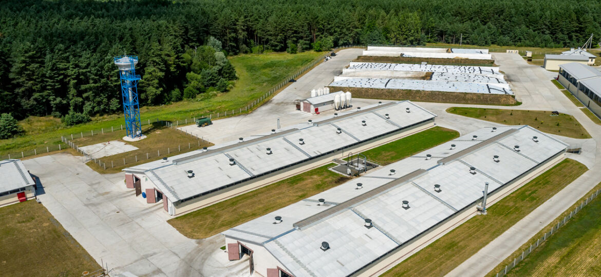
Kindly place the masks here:
MULTIPOLYGON (((601 183, 591 189, 591 192, 600 188, 601 183)), ((522 251, 525 251, 544 233, 551 230, 552 226, 562 221, 564 216, 576 209, 576 206, 579 206, 585 198, 590 197, 591 192, 576 201, 564 213, 535 234, 532 239, 502 261, 487 276, 495 276, 497 272, 505 267, 505 264, 511 263, 513 258, 522 254, 522 251)), ((508 273, 508 276, 601 275, 601 267, 599 267, 601 261, 599 258, 597 257, 596 261, 591 261, 591 257, 594 259, 595 255, 601 252, 601 240, 599 239, 601 237, 601 220, 597 216, 599 213, 601 213, 601 198, 596 197, 581 212, 570 219, 565 227, 562 227, 543 242, 541 246, 532 251, 525 260, 508 273), (588 245, 589 243, 591 245, 588 245), (569 267, 566 266, 568 264, 569 267), (566 272, 566 270, 569 270, 569 272, 566 272)))

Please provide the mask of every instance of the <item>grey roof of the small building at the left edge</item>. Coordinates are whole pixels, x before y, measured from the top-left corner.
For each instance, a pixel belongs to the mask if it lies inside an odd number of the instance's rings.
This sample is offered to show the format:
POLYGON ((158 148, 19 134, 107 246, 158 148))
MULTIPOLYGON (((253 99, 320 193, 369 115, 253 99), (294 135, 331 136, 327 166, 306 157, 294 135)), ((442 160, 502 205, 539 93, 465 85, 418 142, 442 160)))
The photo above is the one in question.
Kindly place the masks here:
POLYGON ((20 159, 0 161, 0 193, 35 185, 20 159))

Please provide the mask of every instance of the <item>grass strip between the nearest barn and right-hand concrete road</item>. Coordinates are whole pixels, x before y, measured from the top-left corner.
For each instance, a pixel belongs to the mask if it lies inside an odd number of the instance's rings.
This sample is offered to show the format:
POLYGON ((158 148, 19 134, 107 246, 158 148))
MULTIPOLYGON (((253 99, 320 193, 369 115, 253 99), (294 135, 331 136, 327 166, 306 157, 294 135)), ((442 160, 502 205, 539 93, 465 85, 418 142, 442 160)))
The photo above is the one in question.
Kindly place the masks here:
POLYGON ((445 275, 585 171, 584 164, 564 159, 490 206, 486 216, 474 216, 382 276, 445 275))

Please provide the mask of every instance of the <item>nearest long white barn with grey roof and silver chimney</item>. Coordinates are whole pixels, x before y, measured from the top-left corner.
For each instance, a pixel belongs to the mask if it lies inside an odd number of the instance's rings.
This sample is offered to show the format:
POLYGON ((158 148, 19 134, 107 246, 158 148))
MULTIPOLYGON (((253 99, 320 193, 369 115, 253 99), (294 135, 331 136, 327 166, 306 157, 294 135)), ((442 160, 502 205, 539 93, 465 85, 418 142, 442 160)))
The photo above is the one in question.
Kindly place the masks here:
POLYGON ((471 213, 485 183, 501 197, 566 148, 526 125, 483 128, 224 231, 228 258, 267 277, 373 274, 471 213))

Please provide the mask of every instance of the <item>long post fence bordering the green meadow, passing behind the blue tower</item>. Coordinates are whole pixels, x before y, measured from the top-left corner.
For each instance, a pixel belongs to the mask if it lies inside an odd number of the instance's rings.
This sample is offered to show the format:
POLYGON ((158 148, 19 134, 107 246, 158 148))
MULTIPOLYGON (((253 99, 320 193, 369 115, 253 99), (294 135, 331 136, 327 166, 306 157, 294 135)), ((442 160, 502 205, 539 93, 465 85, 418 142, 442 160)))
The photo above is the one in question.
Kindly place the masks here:
MULTIPOLYGON (((349 46, 338 46, 335 47, 334 49, 332 49, 331 51, 336 51, 336 50, 340 50, 340 49, 347 49, 347 48, 364 48, 365 46, 358 46, 358 45, 349 45, 349 46)), ((307 70, 310 70, 311 68, 313 68, 315 65, 319 64, 320 62, 322 62, 326 56, 331 55, 331 51, 326 52, 325 54, 317 57, 316 59, 313 59, 313 61, 311 61, 310 64, 308 64, 307 66, 301 68, 301 70, 297 71, 296 73, 290 74, 290 76, 286 77, 281 83, 278 83, 278 85, 274 86, 272 89, 270 89, 269 91, 267 91, 265 94, 261 95, 260 97, 258 97, 257 99, 247 103, 245 106, 240 107, 239 109, 232 109, 232 110, 224 110, 224 111, 220 111, 220 112, 213 112, 210 113, 208 115, 201 115, 201 116, 194 116, 191 118, 182 118, 182 119, 176 119, 175 121, 162 121, 160 119, 145 119, 144 121, 141 121, 141 125, 142 127, 147 126, 147 125, 151 125, 154 124, 156 122, 162 122, 162 124, 165 124, 165 126, 167 127, 178 127, 180 124, 181 125, 188 125, 188 124, 194 124, 197 118, 201 118, 201 117, 207 117, 210 119, 217 119, 217 118, 227 118, 229 116, 234 116, 234 115, 240 115, 241 113, 248 113, 251 112, 252 110, 254 110, 257 106, 260 106, 261 103, 263 103, 264 101, 268 100, 270 96, 272 96, 273 94, 275 94, 276 92, 278 92, 281 88, 283 88, 284 86, 288 85, 288 83, 290 83, 291 80, 296 79, 297 77, 301 76, 302 74, 304 74, 307 70)), ((0 155, 0 159, 7 159, 7 158, 25 158, 26 156, 35 156, 35 155, 39 155, 41 153, 50 153, 53 151, 57 151, 57 150, 63 150, 69 147, 72 147, 72 145, 75 145, 75 143, 73 143, 73 140, 75 139, 81 139, 84 137, 90 137, 90 136, 97 136, 99 134, 106 134, 106 133, 112 133, 115 131, 123 131, 123 124, 121 125, 116 125, 116 126, 112 126, 112 127, 106 127, 106 128, 100 128, 100 129, 92 129, 92 130, 88 130, 88 131, 81 131, 79 133, 72 133, 72 134, 66 134, 63 137, 61 137, 61 143, 58 144, 50 144, 48 146, 40 146, 40 147, 36 147, 35 149, 32 150, 26 150, 26 151, 22 151, 22 152, 11 152, 11 153, 5 153, 0 155)), ((199 138, 200 140, 203 140, 202 138, 199 138)), ((203 140, 204 141, 204 140, 203 140)), ((174 147, 177 147, 177 144, 174 144, 174 147)), ((183 146, 178 147, 179 149, 183 149, 183 146)), ((169 147, 168 149, 165 149, 166 152, 170 151, 169 147)), ((78 150, 78 149, 76 149, 78 150)), ((78 152, 81 152, 81 150, 78 150, 78 152)), ((148 154, 149 157, 151 157, 151 154, 148 154)), ((156 157, 156 156, 154 156, 156 157)), ((127 162, 127 160, 126 160, 127 162)))

